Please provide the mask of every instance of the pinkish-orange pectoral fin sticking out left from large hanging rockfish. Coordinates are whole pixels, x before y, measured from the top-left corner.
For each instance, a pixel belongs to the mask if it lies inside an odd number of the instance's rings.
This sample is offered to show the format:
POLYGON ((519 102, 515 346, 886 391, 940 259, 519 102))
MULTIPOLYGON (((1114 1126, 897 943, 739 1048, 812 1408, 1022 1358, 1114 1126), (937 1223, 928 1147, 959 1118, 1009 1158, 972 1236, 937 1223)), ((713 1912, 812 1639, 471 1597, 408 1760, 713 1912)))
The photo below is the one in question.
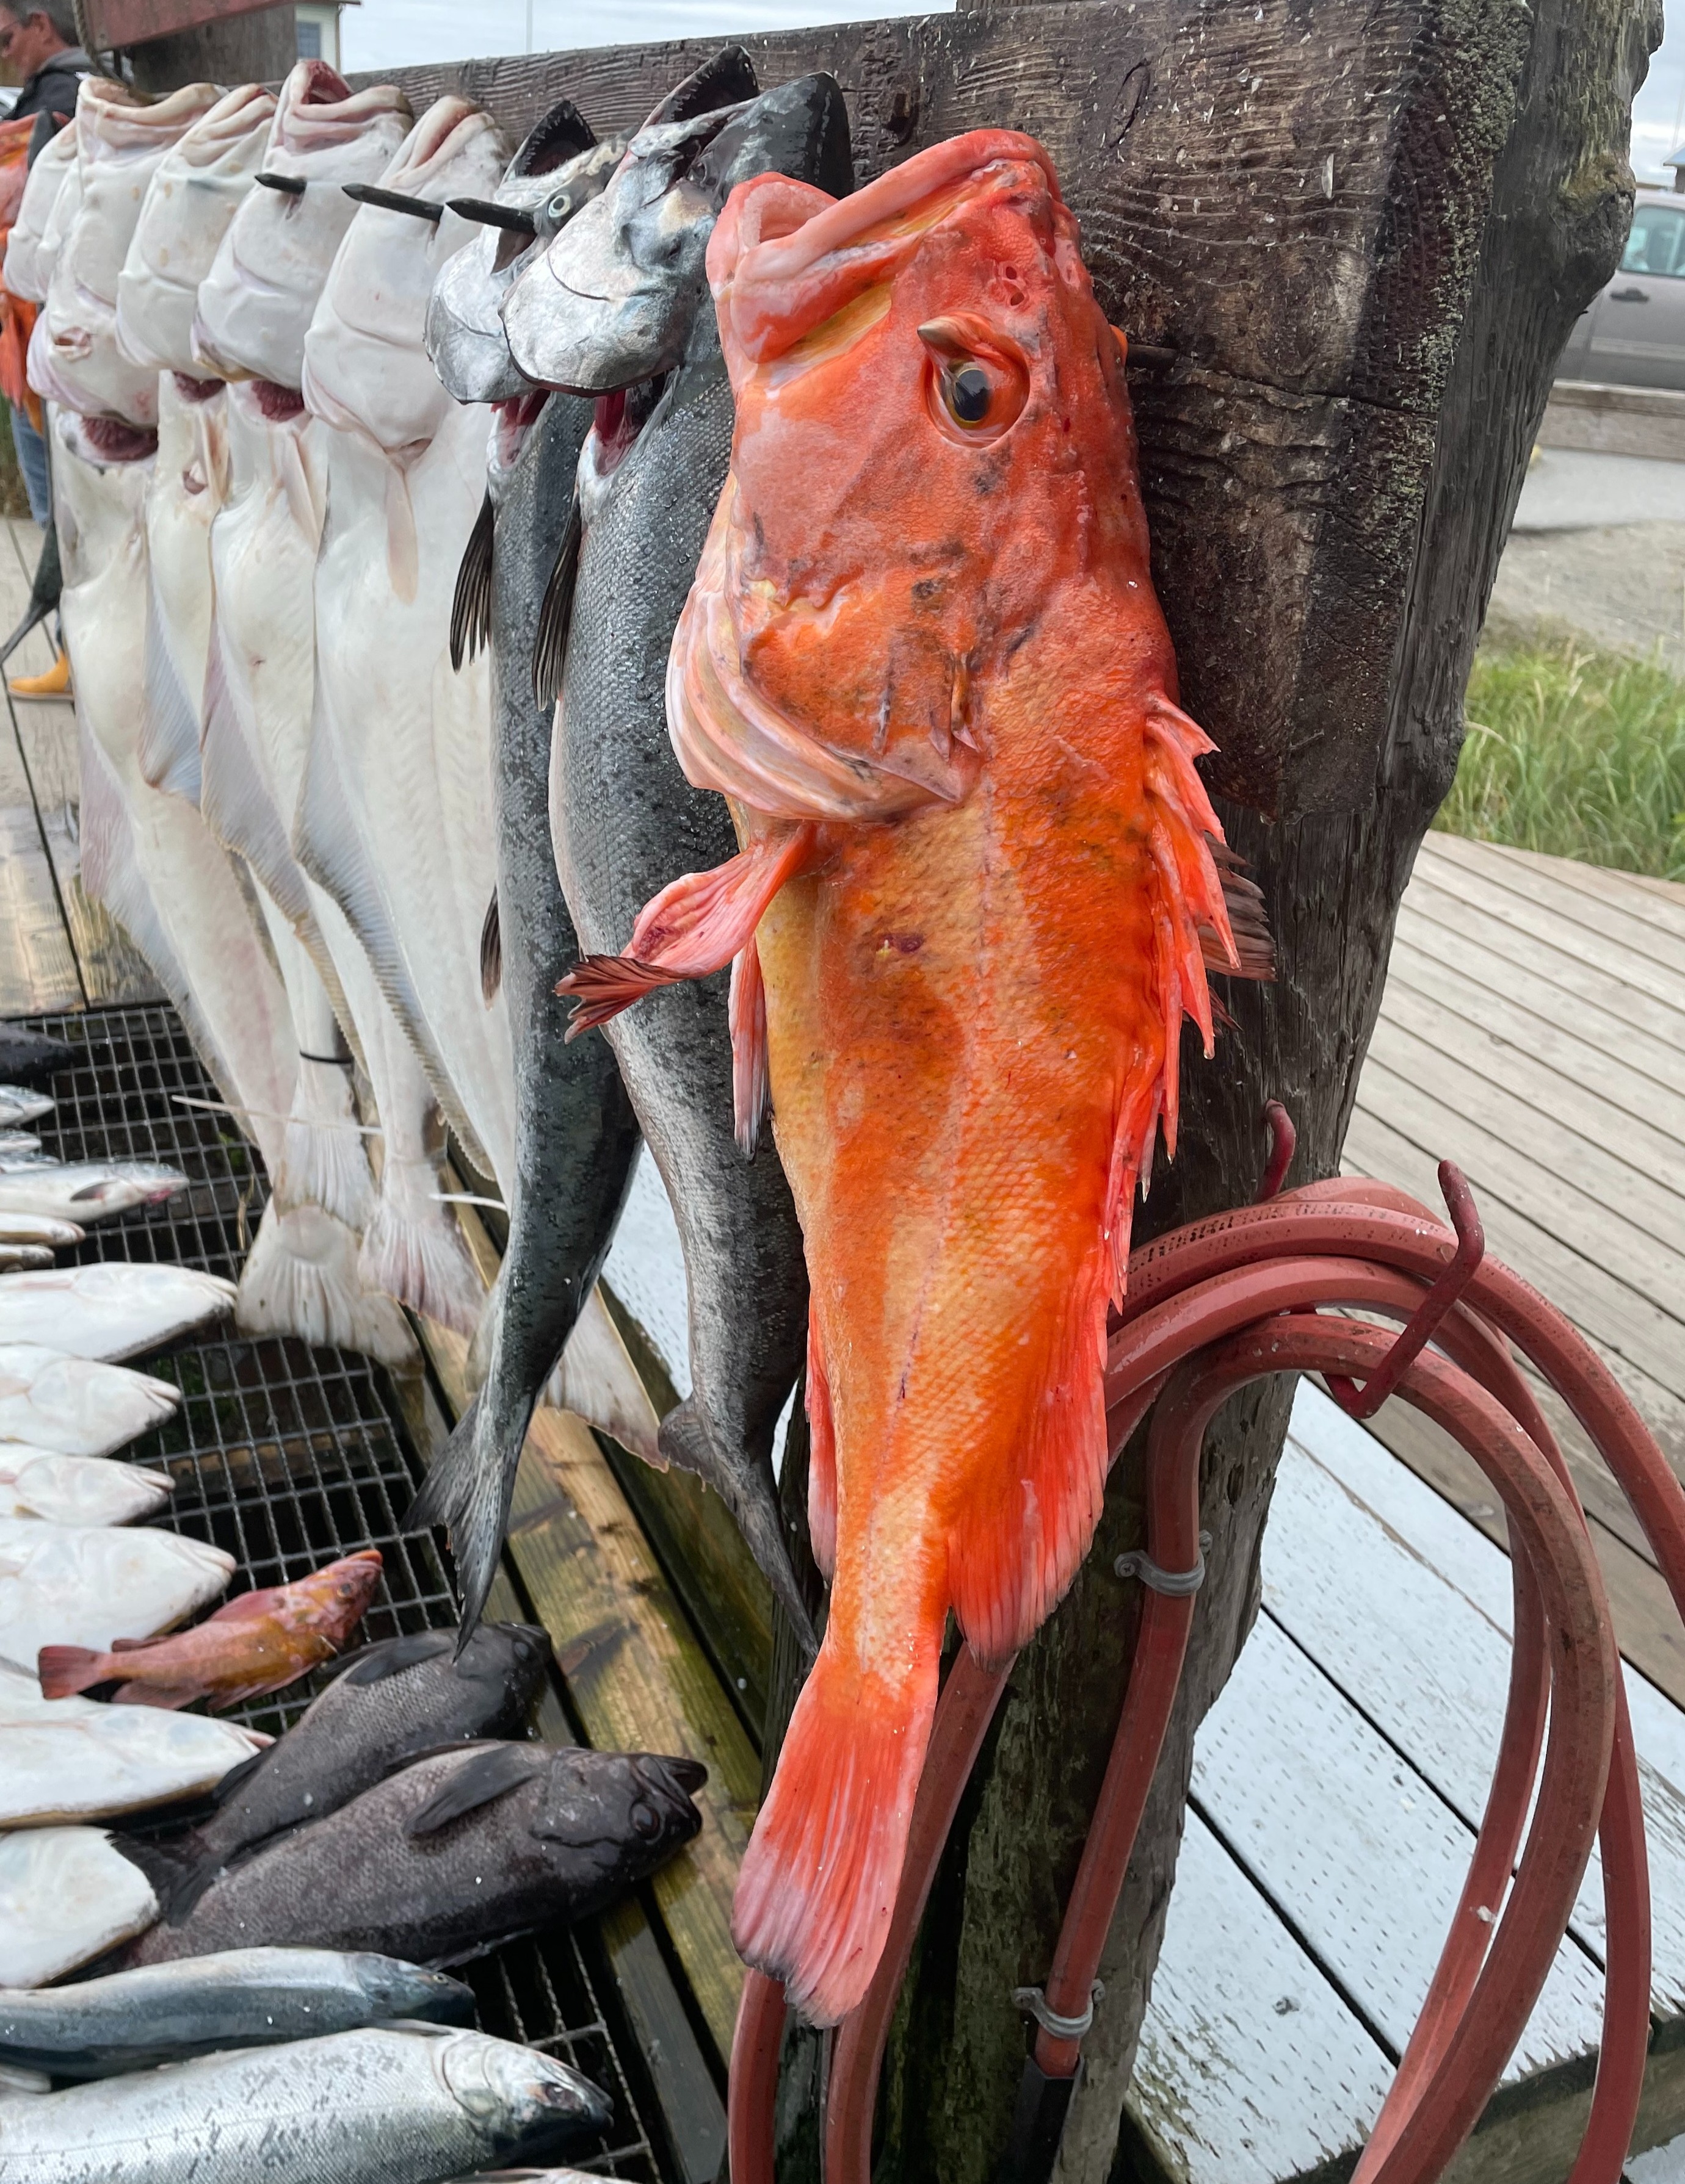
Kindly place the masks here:
POLYGON ((555 987, 579 1007, 568 1037, 605 1024, 658 985, 710 978, 754 939, 761 915, 785 885, 813 860, 817 828, 776 826, 726 865, 686 871, 638 911, 632 941, 618 957, 586 957, 555 987))

